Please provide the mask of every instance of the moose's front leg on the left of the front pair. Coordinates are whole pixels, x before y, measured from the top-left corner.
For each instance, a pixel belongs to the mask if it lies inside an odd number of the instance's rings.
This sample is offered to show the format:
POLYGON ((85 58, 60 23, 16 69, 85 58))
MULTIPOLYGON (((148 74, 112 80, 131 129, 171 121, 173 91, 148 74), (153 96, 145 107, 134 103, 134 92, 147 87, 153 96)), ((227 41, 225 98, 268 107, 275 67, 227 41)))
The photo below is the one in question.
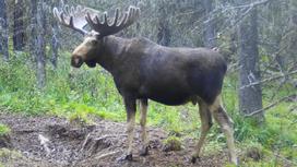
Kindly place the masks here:
POLYGON ((136 103, 134 98, 123 98, 126 111, 127 111, 127 133, 128 133, 128 150, 124 157, 121 159, 132 160, 132 144, 134 138, 134 127, 135 127, 135 111, 136 103))

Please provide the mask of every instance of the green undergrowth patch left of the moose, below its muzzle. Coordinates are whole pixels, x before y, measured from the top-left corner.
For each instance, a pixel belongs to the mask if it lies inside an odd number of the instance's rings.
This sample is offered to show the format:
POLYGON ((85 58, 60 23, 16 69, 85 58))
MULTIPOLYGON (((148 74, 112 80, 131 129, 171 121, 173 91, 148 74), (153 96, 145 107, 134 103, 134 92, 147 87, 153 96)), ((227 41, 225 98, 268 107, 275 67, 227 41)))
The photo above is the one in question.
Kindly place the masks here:
POLYGON ((34 67, 26 55, 0 62, 0 106, 29 115, 70 115, 78 110, 123 111, 111 77, 102 69, 76 70, 60 60, 58 70, 47 69, 47 86, 38 90, 34 67), (88 107, 88 106, 93 106, 88 107))

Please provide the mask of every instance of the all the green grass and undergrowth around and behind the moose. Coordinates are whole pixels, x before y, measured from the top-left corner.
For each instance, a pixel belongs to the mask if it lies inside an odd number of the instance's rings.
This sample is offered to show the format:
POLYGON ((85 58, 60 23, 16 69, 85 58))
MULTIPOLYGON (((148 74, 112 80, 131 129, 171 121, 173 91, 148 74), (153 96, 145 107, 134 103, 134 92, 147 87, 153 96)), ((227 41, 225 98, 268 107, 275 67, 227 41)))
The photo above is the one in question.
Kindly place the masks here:
MULTIPOLYGON (((69 57, 68 53, 64 55, 69 57)), ((126 121, 121 97, 114 85, 112 77, 103 69, 83 67, 70 73, 68 59, 60 58, 57 70, 48 64, 47 85, 38 90, 34 65, 24 63, 28 58, 26 53, 19 53, 17 57, 13 55, 9 63, 0 62, 1 108, 27 115, 55 115, 82 123, 92 123, 94 117, 126 121)), ((297 163, 297 115, 289 110, 294 104, 284 102, 266 110, 265 123, 259 128, 253 120, 243 119, 239 115, 236 79, 236 73, 227 75, 223 100, 235 121, 237 145, 242 150, 246 147, 245 144, 261 145, 265 150, 264 155, 271 158, 265 163, 262 160, 263 164, 258 164, 259 166, 275 163, 273 159, 276 157, 273 153, 297 163)), ((294 88, 286 85, 280 90, 276 98, 288 95, 292 91, 294 88)), ((273 86, 264 87, 263 93, 263 104, 266 106, 271 102, 273 86)), ((136 117, 139 118, 139 115, 136 117)), ((150 102, 147 120, 148 126, 162 127, 171 136, 199 138, 198 107, 191 104, 169 107, 150 102)), ((0 126, 0 134, 1 129, 5 128, 0 126)), ((225 138, 217 126, 212 128, 207 138, 211 144, 206 145, 206 150, 225 146, 225 138)), ((248 163, 247 166, 254 166, 253 163, 248 163)))

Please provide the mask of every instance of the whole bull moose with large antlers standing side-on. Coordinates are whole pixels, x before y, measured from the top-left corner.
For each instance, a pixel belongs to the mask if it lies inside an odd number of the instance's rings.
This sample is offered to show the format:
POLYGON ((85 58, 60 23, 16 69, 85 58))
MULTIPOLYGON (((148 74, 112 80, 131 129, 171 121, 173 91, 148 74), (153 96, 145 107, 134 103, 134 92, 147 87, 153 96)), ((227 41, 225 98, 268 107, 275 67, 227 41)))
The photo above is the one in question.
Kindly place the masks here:
POLYGON ((114 76, 127 111, 127 153, 123 160, 132 160, 136 100, 140 102, 141 148, 140 155, 148 154, 145 129, 148 99, 170 106, 193 103, 199 105, 201 134, 192 154, 195 163, 211 129, 212 117, 227 139, 229 160, 237 164, 233 121, 221 99, 227 64, 222 55, 207 48, 164 47, 144 37, 131 39, 115 34, 133 24, 140 17, 140 9, 130 7, 124 14, 115 11, 114 20, 105 12, 83 7, 54 9, 62 24, 82 35, 84 40, 71 56, 71 65, 90 68, 102 65, 114 76), (100 17, 103 21, 100 21, 100 17), (88 25, 91 31, 86 31, 88 25))

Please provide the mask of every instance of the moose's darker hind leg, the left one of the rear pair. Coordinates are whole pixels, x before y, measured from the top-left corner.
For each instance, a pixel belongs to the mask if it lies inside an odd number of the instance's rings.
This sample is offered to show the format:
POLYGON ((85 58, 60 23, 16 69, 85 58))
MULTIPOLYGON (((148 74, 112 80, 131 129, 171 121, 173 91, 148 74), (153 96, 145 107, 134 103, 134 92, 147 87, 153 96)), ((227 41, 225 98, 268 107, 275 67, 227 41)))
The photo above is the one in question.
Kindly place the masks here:
POLYGON ((195 163, 197 158, 199 158, 200 151, 201 151, 201 147, 204 143, 206 134, 213 124, 212 115, 211 115, 210 110, 207 109, 207 105, 203 100, 199 102, 199 114, 200 114, 200 119, 201 119, 201 134, 200 134, 200 139, 195 145, 195 152, 192 155, 192 163, 195 163))

